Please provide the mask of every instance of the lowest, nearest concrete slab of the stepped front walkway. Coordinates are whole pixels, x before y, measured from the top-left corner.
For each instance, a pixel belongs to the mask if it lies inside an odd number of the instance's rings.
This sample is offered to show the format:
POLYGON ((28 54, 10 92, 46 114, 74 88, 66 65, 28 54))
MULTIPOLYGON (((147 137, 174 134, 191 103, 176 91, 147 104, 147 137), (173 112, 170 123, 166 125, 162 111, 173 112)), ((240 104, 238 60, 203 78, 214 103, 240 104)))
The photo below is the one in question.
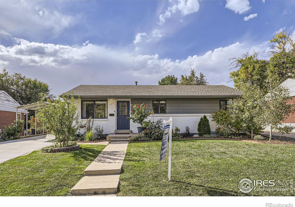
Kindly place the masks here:
POLYGON ((72 189, 73 195, 117 193, 120 175, 84 176, 72 189))

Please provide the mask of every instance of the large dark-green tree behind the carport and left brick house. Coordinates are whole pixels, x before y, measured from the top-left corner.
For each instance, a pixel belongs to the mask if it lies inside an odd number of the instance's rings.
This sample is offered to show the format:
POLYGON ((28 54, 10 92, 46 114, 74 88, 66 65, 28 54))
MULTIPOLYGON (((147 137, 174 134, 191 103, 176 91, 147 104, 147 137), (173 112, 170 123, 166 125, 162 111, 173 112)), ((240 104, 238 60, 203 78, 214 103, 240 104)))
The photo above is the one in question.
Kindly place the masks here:
POLYGON ((53 97, 47 83, 28 78, 20 73, 9 75, 6 69, 0 73, 0 90, 7 92, 20 105, 39 101, 39 94, 53 97))

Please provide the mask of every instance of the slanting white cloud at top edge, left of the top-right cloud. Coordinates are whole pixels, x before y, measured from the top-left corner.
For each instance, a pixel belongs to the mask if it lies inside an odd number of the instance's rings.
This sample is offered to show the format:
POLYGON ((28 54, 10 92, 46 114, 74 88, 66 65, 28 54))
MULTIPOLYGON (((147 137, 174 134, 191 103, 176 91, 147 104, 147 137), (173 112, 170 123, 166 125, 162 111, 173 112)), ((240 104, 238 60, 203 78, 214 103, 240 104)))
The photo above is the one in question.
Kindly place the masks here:
POLYGON ((180 11, 183 16, 186 16, 198 12, 199 9, 200 4, 197 0, 178 0, 178 4, 168 7, 164 14, 160 14, 158 24, 162 25, 166 19, 170 18, 171 14, 176 13, 177 10, 180 11))

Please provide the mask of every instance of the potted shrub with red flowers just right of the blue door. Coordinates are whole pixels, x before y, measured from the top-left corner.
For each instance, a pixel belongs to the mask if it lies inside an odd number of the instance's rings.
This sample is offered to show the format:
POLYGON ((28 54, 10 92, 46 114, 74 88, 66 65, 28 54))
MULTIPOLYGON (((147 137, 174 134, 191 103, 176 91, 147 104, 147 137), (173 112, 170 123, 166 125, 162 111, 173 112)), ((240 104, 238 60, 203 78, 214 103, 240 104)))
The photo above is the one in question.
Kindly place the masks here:
POLYGON ((149 115, 153 113, 153 110, 149 110, 145 112, 148 108, 146 104, 131 104, 134 110, 130 111, 130 117, 126 117, 127 119, 132 120, 134 123, 140 124, 140 127, 137 127, 138 133, 141 133, 146 127, 143 126, 144 120, 148 118, 149 115))

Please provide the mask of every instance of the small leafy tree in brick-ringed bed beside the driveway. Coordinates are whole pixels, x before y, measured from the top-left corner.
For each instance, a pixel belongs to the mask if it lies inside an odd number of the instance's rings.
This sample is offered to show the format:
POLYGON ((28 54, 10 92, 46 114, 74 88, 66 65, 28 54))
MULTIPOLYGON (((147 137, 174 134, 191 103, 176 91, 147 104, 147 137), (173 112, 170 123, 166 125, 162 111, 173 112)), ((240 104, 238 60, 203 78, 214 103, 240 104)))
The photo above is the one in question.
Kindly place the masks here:
POLYGON ((55 135, 56 145, 65 147, 69 139, 76 136, 81 125, 75 98, 73 94, 63 94, 62 98, 58 97, 53 102, 48 102, 48 105, 38 106, 37 119, 55 135))

